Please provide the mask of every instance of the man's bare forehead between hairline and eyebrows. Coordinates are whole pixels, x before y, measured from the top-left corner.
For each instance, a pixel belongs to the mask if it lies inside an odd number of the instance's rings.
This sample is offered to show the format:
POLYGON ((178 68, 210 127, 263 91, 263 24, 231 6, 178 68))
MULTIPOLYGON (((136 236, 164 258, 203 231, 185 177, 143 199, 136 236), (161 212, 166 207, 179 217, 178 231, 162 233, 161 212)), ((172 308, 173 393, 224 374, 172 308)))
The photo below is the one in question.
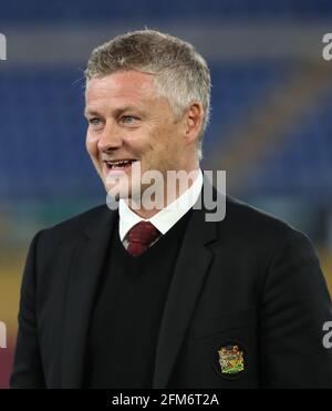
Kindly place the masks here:
POLYGON ((107 101, 139 102, 155 96, 154 75, 136 71, 91 79, 86 84, 86 104, 107 101))

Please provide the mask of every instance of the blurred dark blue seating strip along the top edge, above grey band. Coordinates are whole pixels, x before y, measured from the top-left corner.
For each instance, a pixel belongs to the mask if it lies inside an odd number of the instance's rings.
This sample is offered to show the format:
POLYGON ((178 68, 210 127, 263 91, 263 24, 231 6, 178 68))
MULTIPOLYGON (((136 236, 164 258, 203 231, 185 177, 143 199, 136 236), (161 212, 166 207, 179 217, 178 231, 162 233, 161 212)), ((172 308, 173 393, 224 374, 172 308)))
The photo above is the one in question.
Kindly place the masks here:
POLYGON ((68 2, 58 0, 42 6, 40 0, 20 2, 19 0, 7 2, 1 7, 1 17, 6 21, 25 22, 27 20, 45 22, 51 21, 84 21, 125 19, 128 14, 135 14, 143 19, 174 19, 181 18, 317 18, 332 16, 332 3, 329 0, 209 0, 204 7, 200 0, 126 0, 107 1, 100 0, 93 4, 90 0, 68 2), (76 7, 71 7, 75 4, 76 7))

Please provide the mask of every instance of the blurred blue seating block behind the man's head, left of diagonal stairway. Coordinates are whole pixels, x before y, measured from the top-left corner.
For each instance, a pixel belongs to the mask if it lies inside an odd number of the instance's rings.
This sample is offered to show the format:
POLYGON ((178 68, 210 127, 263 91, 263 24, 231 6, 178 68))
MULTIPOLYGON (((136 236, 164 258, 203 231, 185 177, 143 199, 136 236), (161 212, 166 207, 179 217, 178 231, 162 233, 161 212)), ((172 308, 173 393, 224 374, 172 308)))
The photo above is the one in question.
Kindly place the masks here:
MULTIPOLYGON (((216 143, 225 143, 228 135, 224 130, 237 124, 242 113, 286 75, 272 64, 214 65, 207 152, 216 143)), ((4 121, 0 124, 6 138, 6 151, 0 152, 4 202, 98 195, 101 184, 84 147, 83 88, 82 73, 73 69, 11 70, 0 78, 0 93, 8 96, 1 105, 4 121)))

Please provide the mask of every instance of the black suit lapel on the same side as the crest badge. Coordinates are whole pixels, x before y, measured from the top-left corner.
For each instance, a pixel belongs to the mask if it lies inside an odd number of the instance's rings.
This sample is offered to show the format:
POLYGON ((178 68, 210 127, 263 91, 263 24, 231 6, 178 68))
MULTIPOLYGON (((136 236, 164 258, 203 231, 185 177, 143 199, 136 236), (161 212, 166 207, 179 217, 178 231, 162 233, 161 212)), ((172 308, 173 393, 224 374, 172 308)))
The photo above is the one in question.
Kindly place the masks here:
MULTIPOLYGON (((199 201, 201 201, 201 196, 199 201)), ((206 245, 216 237, 216 223, 205 222, 204 208, 194 209, 160 322, 153 388, 167 388, 167 382, 212 259, 212 254, 206 245)))

